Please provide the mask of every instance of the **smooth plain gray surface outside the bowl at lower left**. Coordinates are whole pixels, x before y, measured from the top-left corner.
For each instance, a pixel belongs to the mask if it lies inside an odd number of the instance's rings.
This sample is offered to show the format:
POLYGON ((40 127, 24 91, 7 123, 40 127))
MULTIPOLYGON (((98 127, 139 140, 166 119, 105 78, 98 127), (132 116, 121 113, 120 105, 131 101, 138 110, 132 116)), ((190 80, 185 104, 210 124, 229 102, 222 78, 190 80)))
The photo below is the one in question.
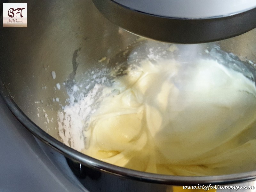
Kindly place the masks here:
POLYGON ((0 96, 0 191, 81 192, 49 161, 0 96))

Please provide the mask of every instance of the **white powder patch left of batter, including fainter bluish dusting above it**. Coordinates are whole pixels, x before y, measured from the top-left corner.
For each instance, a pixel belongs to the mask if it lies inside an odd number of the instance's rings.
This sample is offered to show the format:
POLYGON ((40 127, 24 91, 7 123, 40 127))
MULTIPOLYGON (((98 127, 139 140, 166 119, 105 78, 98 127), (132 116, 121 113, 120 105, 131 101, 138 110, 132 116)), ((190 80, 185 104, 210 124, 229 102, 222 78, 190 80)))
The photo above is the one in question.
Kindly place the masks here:
MULTIPOLYGON (((104 95, 109 79, 106 77, 108 70, 90 71, 91 79, 81 79, 74 84, 64 83, 68 93, 68 104, 62 106, 58 112, 59 136, 67 146, 81 151, 87 146, 87 138, 84 132, 90 116, 95 112, 104 95), (103 90, 105 90, 103 92, 103 90)), ((84 76, 87 76, 86 74, 84 76)), ((59 102, 59 98, 53 99, 59 102)))

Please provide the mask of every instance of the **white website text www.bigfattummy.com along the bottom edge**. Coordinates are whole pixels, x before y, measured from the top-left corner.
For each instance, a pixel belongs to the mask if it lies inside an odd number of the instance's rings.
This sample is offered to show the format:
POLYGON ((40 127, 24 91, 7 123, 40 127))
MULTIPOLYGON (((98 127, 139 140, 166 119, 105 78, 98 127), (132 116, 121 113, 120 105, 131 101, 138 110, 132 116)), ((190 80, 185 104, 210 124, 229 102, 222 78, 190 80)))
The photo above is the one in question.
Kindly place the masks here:
POLYGON ((254 186, 221 186, 221 185, 200 185, 198 186, 182 186, 183 189, 204 189, 205 191, 210 189, 254 189, 254 186))

